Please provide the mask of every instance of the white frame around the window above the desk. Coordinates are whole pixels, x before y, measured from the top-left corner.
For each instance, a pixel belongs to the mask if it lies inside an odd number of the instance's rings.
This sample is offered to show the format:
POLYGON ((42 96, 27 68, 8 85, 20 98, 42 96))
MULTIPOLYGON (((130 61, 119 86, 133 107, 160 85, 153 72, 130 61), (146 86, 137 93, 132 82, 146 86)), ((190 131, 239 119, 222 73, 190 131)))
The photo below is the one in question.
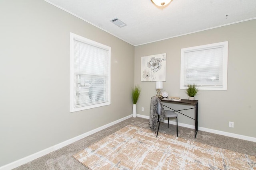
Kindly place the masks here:
MULTIPOLYGON (((204 60, 207 60, 207 58, 205 58, 205 57, 202 58, 202 61, 204 61, 204 60)), ((188 68, 188 66, 187 66, 187 68, 188 68)), ((188 84, 197 84, 199 90, 227 90, 227 79, 228 79, 228 41, 181 49, 180 89, 186 89, 188 84), (190 80, 188 80, 188 78, 186 77, 187 74, 185 74, 186 73, 185 54, 189 53, 189 52, 193 52, 193 51, 201 51, 201 50, 214 49, 214 48, 222 48, 222 68, 220 68, 220 69, 222 69, 222 72, 221 72, 222 84, 221 85, 208 85, 207 83, 204 83, 202 80, 200 80, 200 81, 202 81, 202 83, 199 83, 199 84, 194 83, 192 80, 190 82, 190 80), (186 81, 188 83, 185 83, 186 81)))

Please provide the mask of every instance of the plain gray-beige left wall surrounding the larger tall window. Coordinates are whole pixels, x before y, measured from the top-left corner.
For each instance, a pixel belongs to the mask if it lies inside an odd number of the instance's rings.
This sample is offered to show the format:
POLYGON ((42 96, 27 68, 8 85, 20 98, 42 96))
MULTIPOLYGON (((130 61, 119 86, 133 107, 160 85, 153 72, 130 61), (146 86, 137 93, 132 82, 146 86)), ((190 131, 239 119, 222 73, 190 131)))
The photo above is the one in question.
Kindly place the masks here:
POLYGON ((130 115, 134 46, 43 0, 1 0, 0 80, 2 166, 130 115), (111 47, 111 105, 69 112, 70 32, 111 47))

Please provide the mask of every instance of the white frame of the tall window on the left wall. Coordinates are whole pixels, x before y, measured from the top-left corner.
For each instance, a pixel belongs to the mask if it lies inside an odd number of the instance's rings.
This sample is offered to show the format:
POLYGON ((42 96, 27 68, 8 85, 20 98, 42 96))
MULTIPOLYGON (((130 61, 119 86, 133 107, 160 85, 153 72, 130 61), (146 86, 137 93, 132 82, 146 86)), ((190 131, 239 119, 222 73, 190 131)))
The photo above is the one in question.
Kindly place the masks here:
MULTIPOLYGON (((80 35, 76 35, 74 33, 70 33, 70 112, 75 112, 75 111, 81 111, 81 110, 85 110, 85 109, 91 109, 91 108, 95 108, 95 107, 101 107, 101 106, 107 106, 110 105, 110 63, 111 61, 111 47, 108 47, 106 45, 103 45, 101 43, 92 41, 90 39, 84 38, 80 35), (108 51, 108 59, 107 59, 107 65, 108 65, 108 69, 107 69, 107 78, 106 78, 106 84, 104 86, 105 88, 105 94, 106 94, 106 98, 104 98, 104 101, 100 101, 100 102, 94 102, 92 104, 85 104, 86 106, 78 106, 76 105, 75 99, 77 98, 75 96, 76 94, 76 82, 75 82, 75 75, 77 76, 78 74, 75 73, 75 43, 74 41, 80 41, 82 43, 86 43, 88 45, 91 45, 92 47, 96 47, 96 48, 100 48, 100 49, 104 49, 106 51, 108 51)), ((88 63, 90 64, 90 63, 88 63)), ((86 74, 84 74, 86 75, 86 74)), ((91 75, 91 74, 90 74, 91 75)))

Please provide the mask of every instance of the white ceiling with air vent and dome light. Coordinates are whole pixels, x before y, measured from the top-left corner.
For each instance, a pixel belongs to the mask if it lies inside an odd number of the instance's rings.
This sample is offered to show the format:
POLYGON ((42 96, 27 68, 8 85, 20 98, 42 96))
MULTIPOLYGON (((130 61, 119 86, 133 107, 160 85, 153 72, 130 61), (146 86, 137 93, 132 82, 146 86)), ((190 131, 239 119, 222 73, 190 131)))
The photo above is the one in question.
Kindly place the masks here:
POLYGON ((256 0, 172 0, 165 7, 151 0, 45 1, 134 46, 256 19, 256 0))

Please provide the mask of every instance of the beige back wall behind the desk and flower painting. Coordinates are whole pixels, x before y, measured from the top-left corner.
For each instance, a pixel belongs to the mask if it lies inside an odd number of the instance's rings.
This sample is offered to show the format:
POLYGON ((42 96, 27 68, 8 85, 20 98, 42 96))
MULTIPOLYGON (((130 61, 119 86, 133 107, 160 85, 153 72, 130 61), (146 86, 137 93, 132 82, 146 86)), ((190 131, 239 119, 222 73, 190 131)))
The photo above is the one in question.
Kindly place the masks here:
MULTIPOLYGON (((200 90, 199 127, 256 137, 256 20, 201 31, 135 47, 135 84, 142 87, 137 104, 138 114, 149 115, 150 97, 156 94, 154 82, 141 82, 141 57, 166 53, 166 82, 169 96, 187 98, 180 90, 180 49, 228 41, 227 91, 200 90), (144 107, 144 111, 141 111, 144 107), (234 122, 234 128, 228 122, 234 122)), ((180 108, 181 106, 173 106, 180 108)), ((191 111, 188 114, 193 115, 191 111)), ((179 115, 178 122, 194 125, 187 117, 179 115)))

